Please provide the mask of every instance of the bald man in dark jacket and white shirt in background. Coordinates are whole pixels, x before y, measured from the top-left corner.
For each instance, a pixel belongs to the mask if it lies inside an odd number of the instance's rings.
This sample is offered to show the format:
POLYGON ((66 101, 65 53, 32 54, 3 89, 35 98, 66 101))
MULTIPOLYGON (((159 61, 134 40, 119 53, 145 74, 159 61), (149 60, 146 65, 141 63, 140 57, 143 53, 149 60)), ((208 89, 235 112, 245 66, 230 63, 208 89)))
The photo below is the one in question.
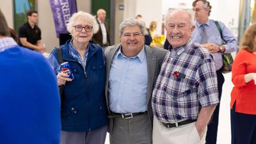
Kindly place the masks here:
POLYGON ((97 11, 99 31, 93 35, 92 41, 94 44, 99 44, 102 47, 107 47, 110 45, 108 23, 105 20, 106 11, 100 8, 97 11))

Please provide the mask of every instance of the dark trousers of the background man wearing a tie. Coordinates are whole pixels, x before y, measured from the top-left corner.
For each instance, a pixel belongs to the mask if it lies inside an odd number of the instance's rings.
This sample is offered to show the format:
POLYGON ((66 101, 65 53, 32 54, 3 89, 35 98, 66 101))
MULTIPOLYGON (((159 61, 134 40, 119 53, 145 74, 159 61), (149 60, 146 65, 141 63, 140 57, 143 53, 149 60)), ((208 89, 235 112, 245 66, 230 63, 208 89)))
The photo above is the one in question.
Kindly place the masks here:
MULTIPOLYGON (((221 70, 217 70, 216 73, 217 73, 217 81, 218 81, 219 99, 221 99, 222 86, 225 79, 221 70)), ((216 109, 212 114, 211 121, 207 125, 207 134, 205 138, 205 144, 216 144, 218 124, 219 124, 219 111, 220 111, 220 103, 216 106, 216 109)))

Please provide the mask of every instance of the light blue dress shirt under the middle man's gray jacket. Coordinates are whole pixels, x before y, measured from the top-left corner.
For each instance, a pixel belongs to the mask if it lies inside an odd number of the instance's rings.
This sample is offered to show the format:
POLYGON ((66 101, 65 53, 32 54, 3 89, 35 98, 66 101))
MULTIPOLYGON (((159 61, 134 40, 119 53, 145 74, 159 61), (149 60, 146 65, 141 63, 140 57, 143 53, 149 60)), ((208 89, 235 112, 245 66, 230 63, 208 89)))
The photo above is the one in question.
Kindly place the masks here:
POLYGON ((116 52, 109 72, 109 108, 114 113, 147 111, 147 58, 145 47, 127 58, 121 48, 116 52))

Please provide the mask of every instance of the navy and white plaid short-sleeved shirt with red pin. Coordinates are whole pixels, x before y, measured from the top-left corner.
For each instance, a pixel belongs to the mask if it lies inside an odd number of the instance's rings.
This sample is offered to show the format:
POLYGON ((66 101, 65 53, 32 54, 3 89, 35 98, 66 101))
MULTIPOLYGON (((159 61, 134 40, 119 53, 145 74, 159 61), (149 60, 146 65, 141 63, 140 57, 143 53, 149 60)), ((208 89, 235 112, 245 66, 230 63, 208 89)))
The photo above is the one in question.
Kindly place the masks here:
POLYGON ((157 119, 170 123, 195 120, 202 107, 218 102, 213 56, 191 40, 171 49, 153 91, 152 107, 157 119))

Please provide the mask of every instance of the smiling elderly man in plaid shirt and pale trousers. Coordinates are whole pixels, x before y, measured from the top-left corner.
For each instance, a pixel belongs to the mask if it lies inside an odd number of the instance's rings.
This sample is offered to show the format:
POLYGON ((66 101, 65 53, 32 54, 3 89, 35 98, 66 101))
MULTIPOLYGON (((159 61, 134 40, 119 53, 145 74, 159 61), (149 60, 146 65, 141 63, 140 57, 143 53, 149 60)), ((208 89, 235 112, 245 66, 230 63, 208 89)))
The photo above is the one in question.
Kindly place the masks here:
POLYGON ((154 144, 204 143, 207 124, 218 104, 213 56, 190 40, 193 17, 184 10, 166 15, 170 51, 152 95, 154 144))

